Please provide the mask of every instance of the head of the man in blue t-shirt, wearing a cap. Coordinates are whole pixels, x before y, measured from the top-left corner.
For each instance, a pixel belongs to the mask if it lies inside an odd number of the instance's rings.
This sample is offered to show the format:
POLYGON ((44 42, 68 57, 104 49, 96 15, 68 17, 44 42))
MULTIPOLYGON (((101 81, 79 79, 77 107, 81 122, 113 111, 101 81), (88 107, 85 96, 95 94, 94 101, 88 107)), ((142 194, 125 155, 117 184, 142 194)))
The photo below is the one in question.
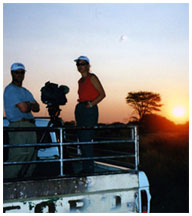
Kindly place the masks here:
POLYGON ((12 81, 15 84, 21 85, 25 77, 25 66, 21 63, 11 65, 12 81))

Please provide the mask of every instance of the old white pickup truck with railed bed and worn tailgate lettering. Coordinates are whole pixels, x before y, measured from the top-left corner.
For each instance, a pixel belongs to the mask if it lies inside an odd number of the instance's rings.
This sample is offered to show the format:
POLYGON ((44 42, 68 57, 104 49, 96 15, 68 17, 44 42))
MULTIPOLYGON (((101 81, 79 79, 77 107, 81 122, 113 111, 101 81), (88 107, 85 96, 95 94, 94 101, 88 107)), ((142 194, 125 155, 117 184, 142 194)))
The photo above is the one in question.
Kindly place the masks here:
MULTIPOLYGON (((23 162, 36 163, 36 174, 30 179, 4 179, 4 213, 150 212, 149 182, 138 170, 137 126, 99 125, 92 128, 93 141, 78 142, 76 131, 90 128, 47 127, 48 122, 36 119, 35 130, 40 135, 46 131, 45 141, 28 144, 38 147, 38 160, 23 162), (93 157, 81 157, 82 144, 94 145, 93 157), (94 160, 93 173, 79 172, 83 160, 94 160)), ((6 119, 3 124, 4 166, 21 164, 6 161, 6 150, 22 145, 9 145, 8 131, 18 129, 8 128, 6 119)))

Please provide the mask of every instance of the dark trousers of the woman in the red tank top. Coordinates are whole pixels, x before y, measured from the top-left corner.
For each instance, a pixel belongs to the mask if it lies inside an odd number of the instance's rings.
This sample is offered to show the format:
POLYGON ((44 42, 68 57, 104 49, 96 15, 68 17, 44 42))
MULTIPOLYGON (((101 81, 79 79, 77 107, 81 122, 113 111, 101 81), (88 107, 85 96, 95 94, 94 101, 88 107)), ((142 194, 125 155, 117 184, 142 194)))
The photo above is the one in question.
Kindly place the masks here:
MULTIPOLYGON (((86 103, 79 103, 75 108, 75 119, 78 127, 94 127, 98 123, 98 107, 97 105, 87 108, 86 103)), ((78 138, 79 141, 91 141, 94 136, 94 130, 79 130, 78 138)), ((93 156, 93 145, 86 144, 80 145, 82 157, 91 157, 93 156)), ((83 171, 93 172, 94 171, 94 162, 92 161, 83 161, 83 171)))

